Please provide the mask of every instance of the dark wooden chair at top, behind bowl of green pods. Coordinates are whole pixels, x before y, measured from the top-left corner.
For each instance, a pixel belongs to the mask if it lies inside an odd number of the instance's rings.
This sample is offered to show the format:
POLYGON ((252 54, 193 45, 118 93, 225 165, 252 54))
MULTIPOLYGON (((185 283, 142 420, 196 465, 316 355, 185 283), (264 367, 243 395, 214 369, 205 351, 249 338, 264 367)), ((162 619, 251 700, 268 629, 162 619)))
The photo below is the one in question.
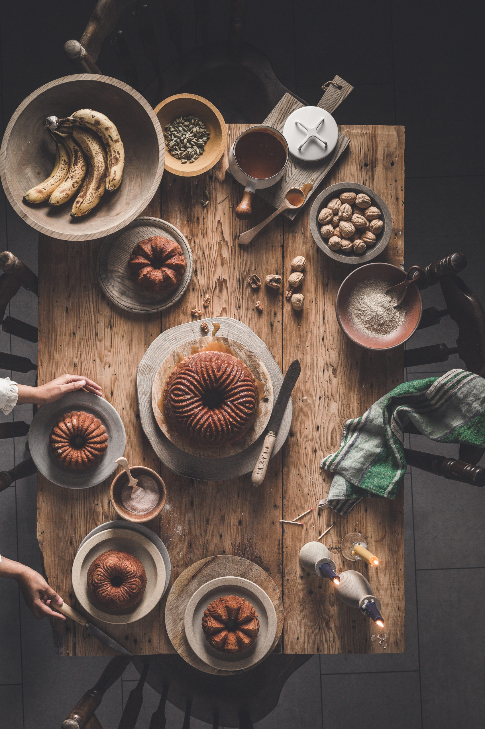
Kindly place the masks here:
POLYGON ((142 90, 152 106, 176 93, 195 93, 212 101, 226 122, 261 122, 288 89, 276 78, 268 58, 242 42, 245 5, 244 0, 231 0, 228 39, 209 44, 209 1, 195 0, 195 20, 203 46, 184 55, 184 22, 178 3, 164 2, 163 32, 176 49, 176 61, 165 71, 160 70, 160 46, 143 0, 136 2, 134 10, 130 0, 99 0, 80 42, 67 41, 64 51, 77 72, 100 74, 98 56, 103 42, 110 39, 125 80, 139 90, 136 64, 119 28, 123 13, 133 13, 144 54, 155 70, 154 82, 142 90))

